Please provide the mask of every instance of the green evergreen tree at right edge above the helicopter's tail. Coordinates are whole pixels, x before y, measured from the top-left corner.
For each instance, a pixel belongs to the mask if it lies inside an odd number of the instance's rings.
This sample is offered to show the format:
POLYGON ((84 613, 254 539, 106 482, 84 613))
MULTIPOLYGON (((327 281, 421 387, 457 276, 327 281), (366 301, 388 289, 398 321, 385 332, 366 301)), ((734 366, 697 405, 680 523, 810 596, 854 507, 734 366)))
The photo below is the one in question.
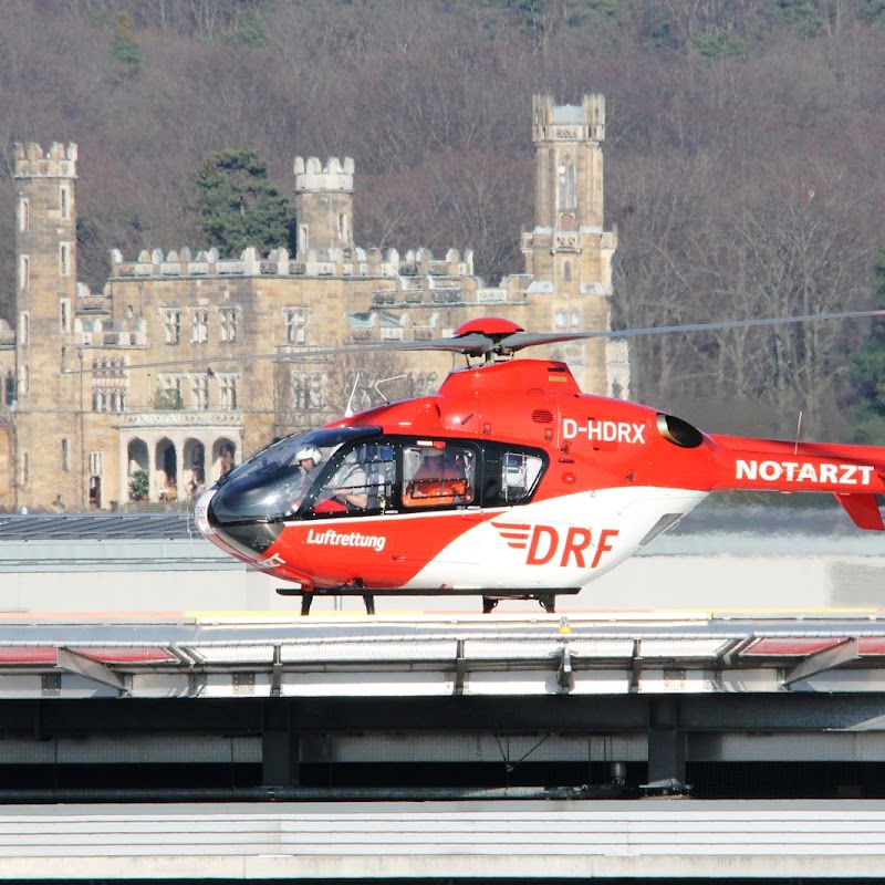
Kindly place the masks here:
MULTIPOLYGON (((873 267, 876 309, 885 310, 885 251, 873 267)), ((870 340, 852 357, 851 381, 855 392, 856 442, 885 442, 885 320, 875 320, 870 340)))

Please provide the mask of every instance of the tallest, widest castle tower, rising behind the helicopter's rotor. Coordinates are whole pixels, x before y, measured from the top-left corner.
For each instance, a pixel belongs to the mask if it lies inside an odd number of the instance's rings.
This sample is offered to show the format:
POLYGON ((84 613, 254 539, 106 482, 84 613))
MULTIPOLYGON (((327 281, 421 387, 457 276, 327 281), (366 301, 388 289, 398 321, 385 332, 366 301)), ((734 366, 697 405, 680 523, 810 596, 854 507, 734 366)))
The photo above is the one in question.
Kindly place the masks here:
MULTIPOLYGON (((617 235, 603 229, 605 97, 585 95, 581 104, 555 105, 549 95, 532 98, 535 145, 534 228, 522 235, 533 329, 558 332, 610 329, 612 257, 617 235)), ((604 341, 560 347, 584 389, 625 393, 623 372, 604 341), (581 368, 583 367, 583 369, 581 368)), ((623 348, 622 348, 623 350, 623 348)))

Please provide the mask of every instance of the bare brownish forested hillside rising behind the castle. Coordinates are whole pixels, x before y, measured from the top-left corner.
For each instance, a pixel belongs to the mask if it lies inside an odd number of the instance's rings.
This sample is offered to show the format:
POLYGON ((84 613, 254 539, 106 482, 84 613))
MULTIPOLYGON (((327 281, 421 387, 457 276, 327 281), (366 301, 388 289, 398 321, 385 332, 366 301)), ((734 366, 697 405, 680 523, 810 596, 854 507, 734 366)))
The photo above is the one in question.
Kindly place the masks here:
MULTIPOLYGON (((194 181, 254 148, 356 162, 355 240, 521 268, 531 96, 607 102, 615 316, 650 326, 874 304, 883 0, 6 0, 0 314, 11 144, 76 142, 80 278, 107 251, 211 246, 194 181)), ((540 331, 540 330, 539 330, 540 331)), ((872 321, 636 342, 634 395, 710 429, 846 439, 872 321)), ((885 384, 885 379, 883 381, 885 384)), ((885 439, 879 440, 885 441, 885 439)))

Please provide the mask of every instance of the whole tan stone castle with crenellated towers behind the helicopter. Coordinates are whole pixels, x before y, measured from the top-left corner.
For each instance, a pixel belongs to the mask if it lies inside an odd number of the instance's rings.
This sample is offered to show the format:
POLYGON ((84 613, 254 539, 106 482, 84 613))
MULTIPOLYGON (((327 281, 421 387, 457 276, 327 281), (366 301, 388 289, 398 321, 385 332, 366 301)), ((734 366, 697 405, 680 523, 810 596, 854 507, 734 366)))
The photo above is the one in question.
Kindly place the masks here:
MULTIPOLYGON (((0 509, 185 501, 273 436, 342 414, 369 358, 315 347, 420 341, 502 315, 530 331, 610 329, 605 104, 533 98, 535 217, 524 273, 487 287, 472 254, 353 242, 354 163, 296 157, 296 251, 112 253, 76 282, 75 145, 15 145, 17 316, 0 321, 0 509), (348 358, 355 360, 348 365, 348 358)), ((583 389, 626 395, 623 341, 555 345, 583 389)), ((449 355, 396 357, 417 393, 449 355)))

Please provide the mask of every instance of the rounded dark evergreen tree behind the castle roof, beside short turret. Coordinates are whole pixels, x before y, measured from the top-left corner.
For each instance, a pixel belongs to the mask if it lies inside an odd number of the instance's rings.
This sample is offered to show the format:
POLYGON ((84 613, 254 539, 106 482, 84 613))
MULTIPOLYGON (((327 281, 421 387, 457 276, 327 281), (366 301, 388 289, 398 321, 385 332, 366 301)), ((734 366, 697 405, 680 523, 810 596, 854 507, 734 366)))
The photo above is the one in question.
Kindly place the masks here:
POLYGON ((253 246, 262 253, 288 246, 292 226, 289 200, 268 178, 268 164, 254 148, 219 150, 194 179, 197 211, 209 244, 222 254, 253 246))

